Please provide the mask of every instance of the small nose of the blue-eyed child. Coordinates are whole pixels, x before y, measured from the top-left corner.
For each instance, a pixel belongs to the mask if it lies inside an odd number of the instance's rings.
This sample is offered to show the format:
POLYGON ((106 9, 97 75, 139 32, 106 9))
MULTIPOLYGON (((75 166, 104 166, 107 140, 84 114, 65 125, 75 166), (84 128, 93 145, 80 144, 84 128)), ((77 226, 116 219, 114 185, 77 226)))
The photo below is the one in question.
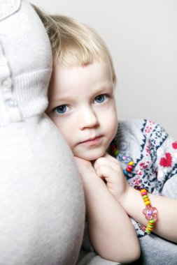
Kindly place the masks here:
POLYGON ((78 126, 80 130, 93 128, 99 123, 97 115, 91 107, 80 108, 78 114, 78 126))

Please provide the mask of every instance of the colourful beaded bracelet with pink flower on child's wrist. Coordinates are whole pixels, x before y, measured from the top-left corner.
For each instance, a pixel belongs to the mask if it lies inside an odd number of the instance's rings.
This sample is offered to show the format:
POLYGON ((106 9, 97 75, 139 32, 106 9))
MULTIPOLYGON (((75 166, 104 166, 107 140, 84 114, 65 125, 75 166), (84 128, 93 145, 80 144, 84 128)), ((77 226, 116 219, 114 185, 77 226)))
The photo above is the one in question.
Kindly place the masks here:
POLYGON ((144 204, 146 205, 146 209, 143 209, 143 214, 146 216, 148 220, 148 225, 145 229, 147 234, 150 234, 154 228, 155 221, 157 220, 157 209, 150 205, 150 199, 148 197, 148 192, 146 189, 140 190, 141 196, 143 198, 144 204))

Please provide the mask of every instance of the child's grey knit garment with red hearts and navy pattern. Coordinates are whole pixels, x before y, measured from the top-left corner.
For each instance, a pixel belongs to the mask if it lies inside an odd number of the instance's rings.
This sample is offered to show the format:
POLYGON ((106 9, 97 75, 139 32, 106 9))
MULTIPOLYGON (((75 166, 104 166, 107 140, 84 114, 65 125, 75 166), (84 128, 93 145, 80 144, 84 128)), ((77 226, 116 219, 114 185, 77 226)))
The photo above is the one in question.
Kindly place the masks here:
MULTIPOLYGON (((155 195, 177 198, 177 142, 161 126, 146 119, 120 121, 115 142, 121 153, 134 160, 134 169, 127 176, 129 185, 143 185, 155 195)), ((127 164, 120 163, 125 169, 127 164)), ((141 258, 137 264, 177 264, 176 243, 153 233, 146 234, 135 220, 132 223, 141 245, 141 258)), ((111 263, 105 261, 105 264, 111 263)))

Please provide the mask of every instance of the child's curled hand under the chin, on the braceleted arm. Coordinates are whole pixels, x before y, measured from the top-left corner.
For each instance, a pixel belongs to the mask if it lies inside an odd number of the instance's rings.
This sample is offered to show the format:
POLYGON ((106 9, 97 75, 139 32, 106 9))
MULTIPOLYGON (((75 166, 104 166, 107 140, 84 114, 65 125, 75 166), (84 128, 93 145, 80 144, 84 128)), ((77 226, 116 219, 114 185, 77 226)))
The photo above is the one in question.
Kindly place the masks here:
POLYGON ((125 179, 120 162, 105 153, 94 162, 94 169, 97 175, 106 181, 107 188, 115 199, 122 201, 129 190, 129 183, 125 179))

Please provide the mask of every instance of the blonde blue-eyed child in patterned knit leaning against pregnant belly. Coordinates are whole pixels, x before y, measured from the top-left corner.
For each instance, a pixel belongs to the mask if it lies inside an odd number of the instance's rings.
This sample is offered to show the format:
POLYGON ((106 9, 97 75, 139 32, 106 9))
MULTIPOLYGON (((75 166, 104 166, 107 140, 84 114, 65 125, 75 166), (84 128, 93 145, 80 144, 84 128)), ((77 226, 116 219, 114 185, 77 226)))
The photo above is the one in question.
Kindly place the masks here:
POLYGON ((139 258, 140 243, 142 264, 161 257, 175 265, 177 142, 153 121, 118 123, 113 61, 93 29, 38 14, 54 57, 46 112, 76 158, 92 247, 127 263, 139 258))

